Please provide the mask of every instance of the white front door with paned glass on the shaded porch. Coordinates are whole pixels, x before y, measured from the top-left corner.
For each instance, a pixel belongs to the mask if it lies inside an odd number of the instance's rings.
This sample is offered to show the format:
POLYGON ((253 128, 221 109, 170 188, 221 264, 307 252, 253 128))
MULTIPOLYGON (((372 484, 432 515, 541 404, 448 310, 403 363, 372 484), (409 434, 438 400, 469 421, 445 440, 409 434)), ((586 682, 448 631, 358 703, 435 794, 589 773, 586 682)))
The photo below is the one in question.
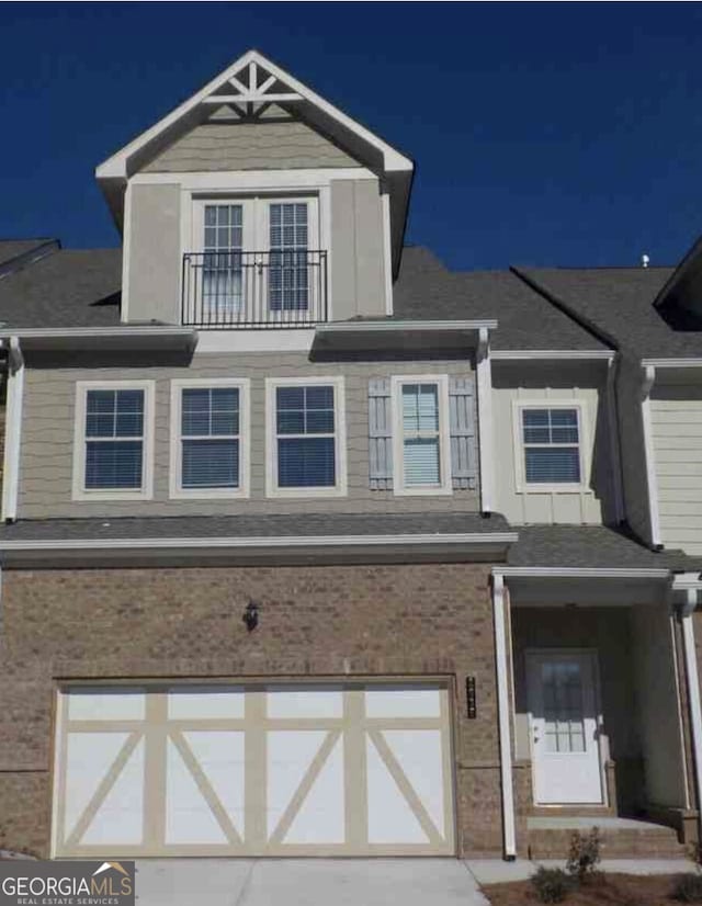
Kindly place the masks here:
POLYGON ((595 656, 526 655, 534 803, 602 802, 595 656))

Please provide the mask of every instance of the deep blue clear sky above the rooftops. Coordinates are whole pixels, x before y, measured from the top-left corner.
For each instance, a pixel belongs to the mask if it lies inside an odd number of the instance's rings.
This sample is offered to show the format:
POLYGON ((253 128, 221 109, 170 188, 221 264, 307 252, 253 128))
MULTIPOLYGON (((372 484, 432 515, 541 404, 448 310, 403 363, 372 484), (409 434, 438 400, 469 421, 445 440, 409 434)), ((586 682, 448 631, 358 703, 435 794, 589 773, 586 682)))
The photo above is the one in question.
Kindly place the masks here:
POLYGON ((0 237, 117 245, 94 167, 252 46, 415 158, 451 267, 702 233, 698 3, 3 3, 0 46, 0 237))

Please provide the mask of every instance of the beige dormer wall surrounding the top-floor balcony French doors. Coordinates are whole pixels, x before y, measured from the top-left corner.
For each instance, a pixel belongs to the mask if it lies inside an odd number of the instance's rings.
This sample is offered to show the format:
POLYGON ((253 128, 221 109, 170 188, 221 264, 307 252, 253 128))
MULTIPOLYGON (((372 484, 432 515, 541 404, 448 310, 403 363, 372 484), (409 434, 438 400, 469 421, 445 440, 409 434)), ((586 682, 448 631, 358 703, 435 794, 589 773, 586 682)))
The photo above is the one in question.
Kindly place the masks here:
MULTIPOLYGON (((380 181, 306 124, 196 126, 162 149, 137 177, 129 183, 125 233, 127 320, 180 321, 183 254, 201 249, 192 225, 193 196, 226 201, 257 194, 292 197, 299 192, 318 199, 318 230, 310 229, 310 236, 318 231, 318 248, 328 253, 330 319, 386 314, 389 224, 380 181), (316 174, 301 182, 304 170, 316 174), (358 178, 349 178, 349 170, 356 170, 358 178), (260 185, 248 178, 251 171, 261 172, 260 185), (242 179, 231 183, 237 175, 242 179), (204 177, 206 188, 197 183, 204 177), (149 178, 157 182, 149 183, 149 178)), ((244 250, 264 251, 265 240, 258 241, 260 248, 244 250)))

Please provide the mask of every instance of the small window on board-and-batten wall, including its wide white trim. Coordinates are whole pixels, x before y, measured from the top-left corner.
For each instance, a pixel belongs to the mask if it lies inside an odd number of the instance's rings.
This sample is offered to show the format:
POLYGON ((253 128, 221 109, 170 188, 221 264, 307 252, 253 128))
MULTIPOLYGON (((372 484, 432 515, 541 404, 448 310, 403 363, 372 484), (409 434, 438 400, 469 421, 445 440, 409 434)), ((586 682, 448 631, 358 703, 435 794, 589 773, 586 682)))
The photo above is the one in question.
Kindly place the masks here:
POLYGON ((518 490, 582 490, 587 485, 581 403, 518 404, 518 490))

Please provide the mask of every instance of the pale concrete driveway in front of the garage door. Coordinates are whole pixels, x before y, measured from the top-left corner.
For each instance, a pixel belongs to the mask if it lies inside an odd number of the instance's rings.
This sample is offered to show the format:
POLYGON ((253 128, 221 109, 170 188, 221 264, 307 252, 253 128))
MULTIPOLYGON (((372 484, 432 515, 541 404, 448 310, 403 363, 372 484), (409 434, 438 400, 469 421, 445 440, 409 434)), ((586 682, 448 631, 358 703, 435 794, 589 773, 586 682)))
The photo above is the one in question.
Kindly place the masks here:
POLYGON ((138 906, 487 906, 457 859, 148 859, 138 906))

